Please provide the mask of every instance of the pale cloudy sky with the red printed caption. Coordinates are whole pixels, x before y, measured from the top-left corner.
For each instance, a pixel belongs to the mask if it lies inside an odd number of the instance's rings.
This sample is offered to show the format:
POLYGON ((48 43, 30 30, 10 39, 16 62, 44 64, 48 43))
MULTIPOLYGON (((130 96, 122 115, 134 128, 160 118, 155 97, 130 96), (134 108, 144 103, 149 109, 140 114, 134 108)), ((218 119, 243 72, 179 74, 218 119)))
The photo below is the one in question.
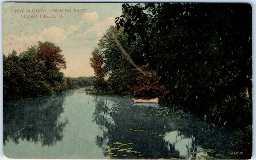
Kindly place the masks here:
POLYGON ((20 54, 38 41, 50 41, 67 61, 61 70, 66 77, 93 76, 92 50, 121 15, 122 3, 4 3, 3 53, 20 54))

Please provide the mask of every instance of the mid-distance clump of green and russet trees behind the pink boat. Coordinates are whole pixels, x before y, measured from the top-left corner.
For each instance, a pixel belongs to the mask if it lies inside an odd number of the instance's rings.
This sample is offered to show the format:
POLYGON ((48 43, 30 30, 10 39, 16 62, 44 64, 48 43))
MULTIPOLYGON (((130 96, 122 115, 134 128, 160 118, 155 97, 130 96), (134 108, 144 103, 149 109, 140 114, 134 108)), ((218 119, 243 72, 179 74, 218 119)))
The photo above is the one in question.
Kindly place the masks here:
POLYGON ((94 88, 99 92, 103 90, 107 94, 115 95, 136 95, 140 97, 145 94, 147 94, 147 97, 155 96, 156 94, 159 96, 164 95, 164 88, 159 88, 159 80, 154 71, 148 72, 147 75, 140 75, 141 73, 136 68, 134 69, 133 65, 120 53, 110 30, 113 30, 133 63, 143 65, 143 69, 148 68, 147 62, 144 60, 143 55, 140 54, 141 45, 143 45, 140 37, 137 37, 137 41, 127 43, 128 36, 124 36, 123 29, 120 28, 117 31, 114 27, 110 27, 100 39, 98 49, 92 52, 91 66, 96 77, 94 88), (148 80, 146 81, 147 86, 144 86, 145 82, 141 81, 141 79, 148 80), (137 85, 141 86, 141 88, 136 87, 137 85), (143 91, 140 92, 141 90, 143 91))

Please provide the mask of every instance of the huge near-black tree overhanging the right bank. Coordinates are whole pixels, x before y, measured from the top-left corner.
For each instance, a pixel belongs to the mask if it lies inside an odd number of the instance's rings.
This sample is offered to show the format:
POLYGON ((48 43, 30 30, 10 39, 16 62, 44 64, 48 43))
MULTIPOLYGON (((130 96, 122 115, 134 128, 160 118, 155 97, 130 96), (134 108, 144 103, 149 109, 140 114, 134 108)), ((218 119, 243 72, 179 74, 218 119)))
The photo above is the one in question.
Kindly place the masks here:
POLYGON ((248 4, 123 4, 116 27, 142 39, 141 53, 165 84, 166 99, 238 127, 252 122, 251 11, 248 4), (243 114, 236 109, 248 105, 243 114), (216 114, 228 112, 234 117, 216 114))

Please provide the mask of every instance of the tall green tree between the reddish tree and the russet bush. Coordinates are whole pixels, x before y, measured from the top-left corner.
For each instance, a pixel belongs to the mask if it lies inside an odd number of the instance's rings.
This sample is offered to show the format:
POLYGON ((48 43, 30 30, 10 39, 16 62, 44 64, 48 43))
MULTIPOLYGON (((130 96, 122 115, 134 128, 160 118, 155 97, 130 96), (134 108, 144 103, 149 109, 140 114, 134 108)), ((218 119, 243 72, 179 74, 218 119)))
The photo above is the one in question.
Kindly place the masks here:
MULTIPOLYGON (((140 51, 140 39, 128 44, 127 36, 123 35, 122 29, 120 28, 117 31, 114 27, 110 27, 98 44, 98 50, 104 59, 103 66, 107 70, 104 76, 107 79, 107 91, 109 94, 126 95, 131 83, 136 81, 132 77, 134 64, 143 64, 145 62, 142 55, 131 54, 140 51), (113 34, 116 40, 113 38, 113 34), (120 48, 122 48, 122 51, 120 51, 120 48), (129 58, 128 60, 127 57, 129 58)), ((136 68, 139 67, 137 66, 136 68)))

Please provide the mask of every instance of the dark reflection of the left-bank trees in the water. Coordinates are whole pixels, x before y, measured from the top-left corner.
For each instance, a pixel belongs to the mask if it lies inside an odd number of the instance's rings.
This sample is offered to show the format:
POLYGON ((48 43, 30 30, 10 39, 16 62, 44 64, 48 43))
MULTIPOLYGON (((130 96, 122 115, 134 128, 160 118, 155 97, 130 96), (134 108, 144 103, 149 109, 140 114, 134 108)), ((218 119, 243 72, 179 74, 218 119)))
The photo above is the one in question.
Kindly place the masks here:
POLYGON ((4 145, 12 140, 16 144, 27 140, 40 142, 42 146, 52 146, 63 138, 63 130, 68 123, 61 118, 63 103, 69 90, 57 95, 38 97, 26 101, 4 103, 4 145))

